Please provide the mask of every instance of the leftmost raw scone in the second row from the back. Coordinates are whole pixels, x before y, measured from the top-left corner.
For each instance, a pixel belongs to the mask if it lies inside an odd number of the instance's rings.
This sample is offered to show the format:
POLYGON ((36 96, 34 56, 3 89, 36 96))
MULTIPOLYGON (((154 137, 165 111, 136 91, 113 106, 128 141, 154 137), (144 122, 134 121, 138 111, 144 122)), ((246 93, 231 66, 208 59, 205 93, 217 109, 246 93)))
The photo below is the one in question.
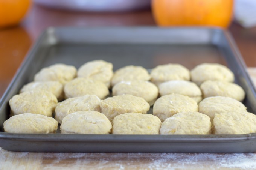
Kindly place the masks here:
POLYGON ((33 81, 24 85, 20 90, 20 93, 41 89, 52 92, 58 101, 61 101, 64 98, 63 87, 63 84, 59 83, 59 81, 33 81))

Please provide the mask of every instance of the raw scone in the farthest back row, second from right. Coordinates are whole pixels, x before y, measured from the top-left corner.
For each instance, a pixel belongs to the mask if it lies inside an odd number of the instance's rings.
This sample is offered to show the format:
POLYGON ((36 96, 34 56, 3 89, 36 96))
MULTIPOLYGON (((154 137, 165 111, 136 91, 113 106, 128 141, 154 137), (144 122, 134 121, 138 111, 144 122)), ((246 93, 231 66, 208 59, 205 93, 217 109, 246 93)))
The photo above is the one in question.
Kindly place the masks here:
POLYGON ((189 69, 180 64, 158 65, 150 75, 151 81, 157 86, 169 80, 190 80, 189 69))

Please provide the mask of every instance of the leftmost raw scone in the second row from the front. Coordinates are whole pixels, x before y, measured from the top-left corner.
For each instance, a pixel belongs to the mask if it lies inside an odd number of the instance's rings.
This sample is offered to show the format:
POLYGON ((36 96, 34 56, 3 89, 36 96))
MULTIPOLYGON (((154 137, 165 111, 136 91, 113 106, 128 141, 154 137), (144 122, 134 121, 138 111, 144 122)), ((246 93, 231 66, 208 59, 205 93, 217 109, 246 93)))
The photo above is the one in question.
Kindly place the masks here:
POLYGON ((13 96, 10 101, 11 112, 14 115, 23 113, 43 114, 52 117, 58 100, 52 92, 32 90, 13 96))

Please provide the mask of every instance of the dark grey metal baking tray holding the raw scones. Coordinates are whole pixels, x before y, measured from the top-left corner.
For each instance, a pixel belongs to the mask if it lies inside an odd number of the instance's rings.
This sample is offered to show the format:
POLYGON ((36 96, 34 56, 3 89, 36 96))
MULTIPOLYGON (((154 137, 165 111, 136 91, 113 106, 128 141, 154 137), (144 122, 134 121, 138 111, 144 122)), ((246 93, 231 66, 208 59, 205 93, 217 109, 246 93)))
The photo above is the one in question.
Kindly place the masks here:
POLYGON ((103 59, 114 70, 126 65, 147 69, 180 63, 221 63, 246 92, 244 104, 256 113, 256 91, 237 47, 227 31, 216 28, 49 28, 30 50, 0 101, 0 147, 22 152, 245 153, 256 151, 256 134, 245 135, 79 135, 3 132, 9 99, 33 80, 41 68, 66 63, 76 68, 103 59))

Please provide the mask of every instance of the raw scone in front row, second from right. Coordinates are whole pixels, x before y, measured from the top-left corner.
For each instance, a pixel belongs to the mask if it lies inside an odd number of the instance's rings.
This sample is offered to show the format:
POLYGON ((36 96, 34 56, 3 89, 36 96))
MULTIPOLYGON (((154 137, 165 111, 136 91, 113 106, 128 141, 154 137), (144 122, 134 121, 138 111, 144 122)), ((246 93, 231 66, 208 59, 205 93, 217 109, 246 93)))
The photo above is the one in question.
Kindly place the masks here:
POLYGON ((211 134, 210 117, 198 112, 180 112, 165 119, 160 134, 206 135, 211 134))

